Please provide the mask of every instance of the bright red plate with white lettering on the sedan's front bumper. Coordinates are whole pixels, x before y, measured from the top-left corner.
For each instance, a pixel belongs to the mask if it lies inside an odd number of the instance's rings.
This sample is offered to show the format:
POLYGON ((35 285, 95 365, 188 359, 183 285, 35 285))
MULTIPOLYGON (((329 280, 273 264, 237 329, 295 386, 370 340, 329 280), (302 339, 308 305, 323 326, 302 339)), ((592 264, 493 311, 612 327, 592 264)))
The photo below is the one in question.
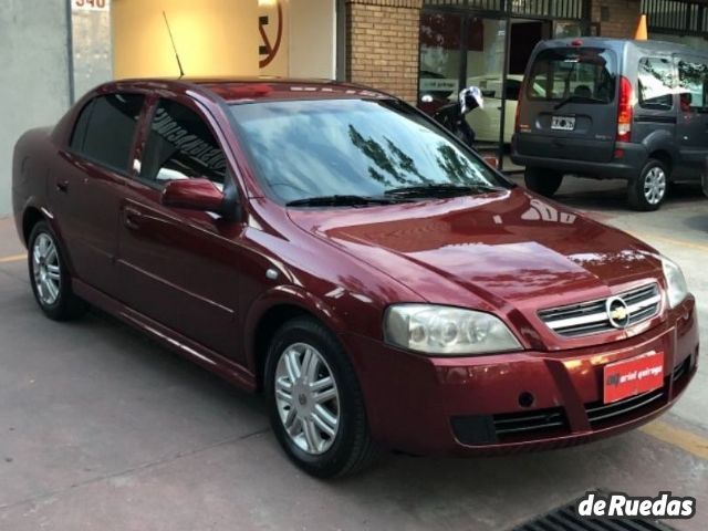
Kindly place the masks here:
POLYGON ((612 404, 664 385, 664 353, 646 354, 610 363, 603 368, 603 402, 612 404))

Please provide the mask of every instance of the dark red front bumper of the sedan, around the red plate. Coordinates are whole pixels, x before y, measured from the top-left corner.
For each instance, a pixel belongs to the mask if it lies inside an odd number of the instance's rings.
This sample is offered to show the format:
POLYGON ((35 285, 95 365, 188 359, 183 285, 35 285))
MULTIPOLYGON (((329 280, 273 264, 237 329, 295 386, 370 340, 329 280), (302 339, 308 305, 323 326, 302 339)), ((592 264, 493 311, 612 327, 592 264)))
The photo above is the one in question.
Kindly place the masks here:
POLYGON ((698 362, 693 298, 632 340, 556 353, 442 358, 358 335, 343 340, 374 439, 416 455, 494 455, 614 435, 667 410, 698 362), (650 351, 665 353, 664 386, 604 405, 604 365, 650 351))

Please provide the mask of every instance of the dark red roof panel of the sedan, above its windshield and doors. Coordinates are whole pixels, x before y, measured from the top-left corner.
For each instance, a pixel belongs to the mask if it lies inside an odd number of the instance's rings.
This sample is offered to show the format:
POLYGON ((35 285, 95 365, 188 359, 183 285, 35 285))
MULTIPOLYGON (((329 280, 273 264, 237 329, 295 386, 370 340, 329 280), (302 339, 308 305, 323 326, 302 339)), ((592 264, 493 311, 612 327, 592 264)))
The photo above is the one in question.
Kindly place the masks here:
POLYGON ((147 90, 170 88, 188 92, 198 86, 229 104, 282 100, 391 98, 389 94, 355 83, 332 80, 295 80, 283 77, 181 77, 136 79, 108 83, 113 90, 129 86, 147 90))

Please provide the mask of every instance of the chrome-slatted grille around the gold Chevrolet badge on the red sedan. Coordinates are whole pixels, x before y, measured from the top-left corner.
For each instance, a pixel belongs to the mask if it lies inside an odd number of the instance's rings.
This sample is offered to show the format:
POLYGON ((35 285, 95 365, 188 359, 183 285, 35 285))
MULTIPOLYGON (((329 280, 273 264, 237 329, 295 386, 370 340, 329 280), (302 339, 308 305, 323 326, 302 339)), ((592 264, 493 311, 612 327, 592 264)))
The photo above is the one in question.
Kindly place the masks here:
MULTIPOLYGON (((656 283, 625 291, 615 296, 621 298, 629 311, 627 326, 633 326, 653 317, 662 305, 662 292, 656 283)), ((615 330, 607 315, 607 299, 597 299, 580 304, 559 306, 539 312, 539 317, 553 332, 566 337, 597 334, 615 330)))

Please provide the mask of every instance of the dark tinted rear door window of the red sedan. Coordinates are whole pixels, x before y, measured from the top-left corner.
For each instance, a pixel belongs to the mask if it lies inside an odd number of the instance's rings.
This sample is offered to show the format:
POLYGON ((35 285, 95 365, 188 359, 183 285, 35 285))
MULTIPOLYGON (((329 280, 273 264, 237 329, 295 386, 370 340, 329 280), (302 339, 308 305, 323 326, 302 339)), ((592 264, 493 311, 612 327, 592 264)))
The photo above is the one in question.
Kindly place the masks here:
POLYGON ((126 173, 143 101, 140 94, 95 97, 76 121, 71 148, 88 160, 126 173))

